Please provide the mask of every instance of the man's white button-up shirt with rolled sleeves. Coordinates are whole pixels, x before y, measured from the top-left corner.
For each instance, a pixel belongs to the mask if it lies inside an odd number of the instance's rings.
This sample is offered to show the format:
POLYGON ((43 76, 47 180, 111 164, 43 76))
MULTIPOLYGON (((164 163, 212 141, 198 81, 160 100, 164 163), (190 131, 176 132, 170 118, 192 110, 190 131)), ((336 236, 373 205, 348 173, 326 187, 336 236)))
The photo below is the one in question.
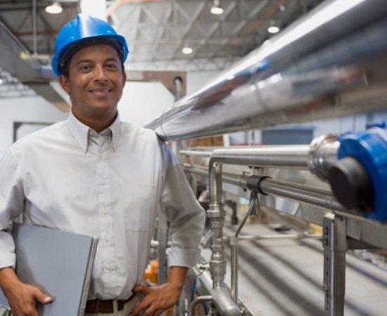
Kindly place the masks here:
POLYGON ((125 299, 141 284, 158 211, 168 264, 198 260, 205 213, 156 133, 119 117, 96 133, 70 112, 13 144, 0 162, 0 268, 14 267, 10 220, 99 237, 89 299, 125 299))

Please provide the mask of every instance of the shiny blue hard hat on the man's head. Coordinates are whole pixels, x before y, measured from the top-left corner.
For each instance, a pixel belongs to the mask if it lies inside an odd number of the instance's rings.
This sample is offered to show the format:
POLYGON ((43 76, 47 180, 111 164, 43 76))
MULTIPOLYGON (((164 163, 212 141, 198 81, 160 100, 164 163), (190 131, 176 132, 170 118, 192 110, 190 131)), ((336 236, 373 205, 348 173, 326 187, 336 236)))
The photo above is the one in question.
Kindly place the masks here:
POLYGON ((91 15, 78 14, 61 29, 55 44, 55 56, 51 62, 53 72, 61 75, 61 67, 70 60, 80 48, 93 44, 108 44, 120 53, 122 62, 127 59, 129 50, 125 37, 118 35, 108 22, 91 15), (84 44, 84 45, 83 45, 84 44))

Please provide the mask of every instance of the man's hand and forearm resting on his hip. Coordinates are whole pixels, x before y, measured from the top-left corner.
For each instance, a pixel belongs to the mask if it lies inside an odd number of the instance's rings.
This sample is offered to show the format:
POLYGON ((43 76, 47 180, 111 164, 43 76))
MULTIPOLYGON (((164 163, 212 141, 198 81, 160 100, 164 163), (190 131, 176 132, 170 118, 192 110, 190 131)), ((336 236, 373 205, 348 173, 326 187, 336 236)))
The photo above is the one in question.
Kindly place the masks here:
POLYGON ((132 310, 130 315, 137 316, 144 311, 142 316, 159 316, 175 305, 182 293, 187 270, 184 267, 170 267, 167 281, 158 287, 136 285, 133 292, 141 293, 145 298, 132 310))

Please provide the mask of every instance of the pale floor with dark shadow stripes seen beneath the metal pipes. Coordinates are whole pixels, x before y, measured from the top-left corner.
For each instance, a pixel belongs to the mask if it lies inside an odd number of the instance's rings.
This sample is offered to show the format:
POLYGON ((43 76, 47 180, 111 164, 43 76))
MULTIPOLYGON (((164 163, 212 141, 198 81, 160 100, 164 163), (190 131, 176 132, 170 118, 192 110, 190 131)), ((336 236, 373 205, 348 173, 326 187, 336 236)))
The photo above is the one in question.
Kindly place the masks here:
MULTIPOLYGON (((236 228, 225 228, 233 235, 236 228)), ((284 234, 293 234, 288 231, 284 234)), ((246 235, 278 234, 246 224, 246 235)), ((227 277, 230 257, 227 249, 227 277)), ((387 271, 347 254, 345 316, 387 315, 387 271)), ((324 315, 323 247, 319 239, 267 239, 239 243, 239 298, 252 315, 324 315)))

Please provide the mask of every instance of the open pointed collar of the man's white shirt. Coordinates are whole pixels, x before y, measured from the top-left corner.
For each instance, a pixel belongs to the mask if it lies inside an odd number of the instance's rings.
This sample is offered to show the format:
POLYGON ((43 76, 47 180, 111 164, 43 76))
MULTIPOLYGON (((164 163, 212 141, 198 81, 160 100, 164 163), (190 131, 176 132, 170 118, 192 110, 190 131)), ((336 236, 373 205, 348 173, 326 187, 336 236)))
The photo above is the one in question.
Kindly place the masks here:
MULTIPOLYGON (((108 127, 108 129, 110 129, 110 131, 112 132, 114 152, 117 149, 118 140, 120 138, 120 125, 120 114, 117 114, 117 117, 115 118, 113 123, 108 127)), ((93 129, 90 129, 89 126, 83 124, 80 120, 78 120, 75 115, 72 114, 72 111, 70 111, 70 114, 68 116, 68 127, 70 129, 70 132, 72 133, 72 136, 74 136, 75 140, 77 140, 77 143, 80 145, 80 147, 86 154, 89 140, 89 131, 93 131, 93 129)))

